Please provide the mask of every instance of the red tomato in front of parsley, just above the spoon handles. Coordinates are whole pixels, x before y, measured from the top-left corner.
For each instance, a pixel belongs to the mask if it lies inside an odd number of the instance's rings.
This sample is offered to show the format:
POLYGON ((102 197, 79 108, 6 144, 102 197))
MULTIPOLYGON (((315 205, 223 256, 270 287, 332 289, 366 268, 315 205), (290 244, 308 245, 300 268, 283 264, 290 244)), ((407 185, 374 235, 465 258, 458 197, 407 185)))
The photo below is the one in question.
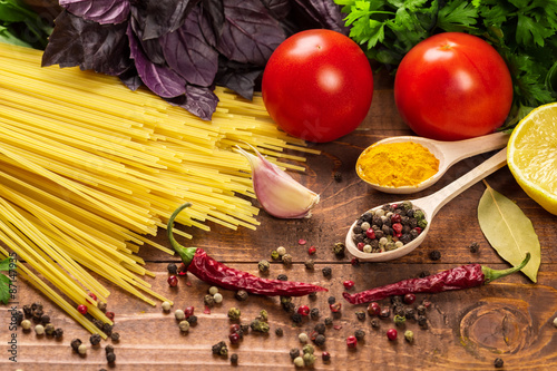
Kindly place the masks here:
POLYGON ((478 37, 446 32, 413 47, 400 62, 394 101, 418 135, 458 140, 494 131, 512 104, 505 60, 478 37))

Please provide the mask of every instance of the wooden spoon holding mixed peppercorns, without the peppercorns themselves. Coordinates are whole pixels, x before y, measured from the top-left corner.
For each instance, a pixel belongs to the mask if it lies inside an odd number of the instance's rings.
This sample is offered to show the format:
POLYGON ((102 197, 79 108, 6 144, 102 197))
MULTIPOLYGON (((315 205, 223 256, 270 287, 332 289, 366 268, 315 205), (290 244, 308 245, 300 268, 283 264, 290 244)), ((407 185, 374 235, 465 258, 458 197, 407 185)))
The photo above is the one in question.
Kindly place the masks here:
MULTIPOLYGON (((436 216, 437 212, 443 207, 449 201, 458 196, 463 191, 468 189, 471 185, 476 184, 478 180, 485 178, 486 176, 495 173, 497 169, 504 167, 507 164, 507 148, 498 152, 496 155, 491 156, 489 159, 485 160, 482 164, 471 169, 457 180, 450 183, 446 187, 439 189, 438 192, 418 199, 410 201, 414 208, 419 208, 426 215, 426 221, 428 225, 420 233, 418 237, 409 242, 408 244, 397 248, 382 253, 364 253, 358 250, 358 246, 353 242, 353 228, 358 221, 355 221, 346 234, 345 245, 349 252, 363 262, 387 262, 397 257, 401 257, 412 252, 418 247, 429 232, 431 222, 436 216)), ((403 201, 394 202, 393 204, 400 204, 403 201)), ((382 205, 373 207, 372 209, 378 209, 382 205)))

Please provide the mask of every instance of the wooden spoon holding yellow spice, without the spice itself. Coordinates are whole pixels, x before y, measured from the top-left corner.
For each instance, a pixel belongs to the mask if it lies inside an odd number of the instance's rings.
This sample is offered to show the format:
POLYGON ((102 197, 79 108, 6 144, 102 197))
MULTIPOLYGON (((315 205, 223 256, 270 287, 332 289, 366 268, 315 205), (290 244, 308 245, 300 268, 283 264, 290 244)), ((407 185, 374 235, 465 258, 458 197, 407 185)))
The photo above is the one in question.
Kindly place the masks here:
POLYGON ((427 187, 436 184, 436 182, 439 180, 441 176, 443 176, 447 169, 452 165, 455 165, 456 163, 458 163, 459 160, 489 150, 502 148, 507 145, 508 140, 509 140, 509 135, 506 133, 495 133, 472 139, 457 140, 457 141, 440 141, 416 136, 400 136, 400 137, 390 137, 379 140, 369 147, 371 148, 380 144, 387 144, 387 143, 413 141, 428 148, 439 159, 439 170, 432 177, 414 186, 389 187, 370 183, 368 179, 365 179, 365 176, 362 174, 359 166, 360 159, 362 158, 365 150, 362 152, 362 154, 358 158, 358 162, 355 164, 355 169, 360 178, 362 178, 362 180, 364 180, 365 183, 368 183, 378 191, 392 194, 416 193, 419 191, 423 191, 427 187))

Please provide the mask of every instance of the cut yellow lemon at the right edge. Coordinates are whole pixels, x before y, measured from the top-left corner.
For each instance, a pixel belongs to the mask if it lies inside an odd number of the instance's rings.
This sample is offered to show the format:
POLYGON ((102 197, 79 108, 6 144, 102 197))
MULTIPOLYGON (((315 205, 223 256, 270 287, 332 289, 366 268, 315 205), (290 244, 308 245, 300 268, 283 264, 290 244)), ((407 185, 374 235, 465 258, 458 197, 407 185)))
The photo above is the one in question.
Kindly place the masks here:
POLYGON ((507 163, 526 194, 557 215, 557 102, 534 109, 517 125, 507 163))

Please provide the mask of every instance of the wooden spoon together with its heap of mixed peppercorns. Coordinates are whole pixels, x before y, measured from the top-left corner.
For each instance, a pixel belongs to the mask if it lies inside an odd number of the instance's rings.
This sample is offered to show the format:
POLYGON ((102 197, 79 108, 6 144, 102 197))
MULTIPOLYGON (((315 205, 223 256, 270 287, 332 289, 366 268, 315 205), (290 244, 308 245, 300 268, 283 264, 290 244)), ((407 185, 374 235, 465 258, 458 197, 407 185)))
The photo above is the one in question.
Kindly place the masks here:
POLYGON ((352 255, 364 262, 387 262, 409 254, 426 240, 431 222, 442 206, 478 180, 505 166, 506 163, 507 148, 504 148, 457 180, 429 196, 392 203, 390 207, 380 205, 362 214, 365 216, 364 218, 360 217, 350 227, 345 241, 346 248, 352 255), (411 212, 409 213, 408 209, 411 212), (388 228, 380 230, 379 224, 387 225, 388 228), (375 227, 373 227, 374 225, 375 227), (392 231, 394 234, 391 238, 387 236, 387 233, 390 233, 388 231, 392 231), (381 238, 390 240, 389 245, 381 238), (392 241, 398 242, 392 243, 392 241), (370 247, 372 252, 369 252, 370 247))

